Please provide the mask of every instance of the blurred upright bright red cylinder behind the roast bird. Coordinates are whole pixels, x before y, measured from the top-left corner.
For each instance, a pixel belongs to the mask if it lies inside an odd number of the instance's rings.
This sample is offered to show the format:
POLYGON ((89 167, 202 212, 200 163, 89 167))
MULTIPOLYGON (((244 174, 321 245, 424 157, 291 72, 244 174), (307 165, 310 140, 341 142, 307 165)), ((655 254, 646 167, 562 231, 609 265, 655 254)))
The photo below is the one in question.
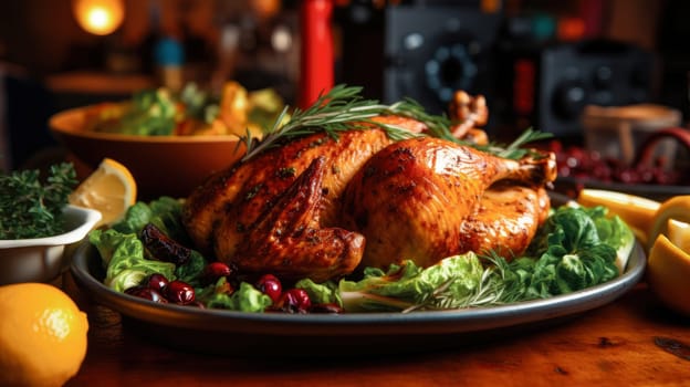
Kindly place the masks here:
POLYGON ((300 74, 300 107, 311 106, 334 82, 334 53, 331 17, 332 0, 302 2, 302 55, 300 74))

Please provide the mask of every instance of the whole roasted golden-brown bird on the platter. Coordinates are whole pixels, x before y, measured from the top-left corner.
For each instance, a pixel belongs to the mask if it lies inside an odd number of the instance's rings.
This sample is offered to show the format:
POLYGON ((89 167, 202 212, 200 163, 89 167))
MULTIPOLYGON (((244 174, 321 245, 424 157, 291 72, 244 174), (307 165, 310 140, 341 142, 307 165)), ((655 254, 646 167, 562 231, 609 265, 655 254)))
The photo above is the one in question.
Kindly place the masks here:
MULTIPOLYGON (((426 130, 410 118, 376 119, 426 130)), ((427 266, 470 250, 510 258, 550 208, 555 160, 543 156, 511 160, 428 136, 393 142, 358 124, 211 176, 187 198, 182 221, 200 251, 285 279, 323 281, 407 259, 427 266)))

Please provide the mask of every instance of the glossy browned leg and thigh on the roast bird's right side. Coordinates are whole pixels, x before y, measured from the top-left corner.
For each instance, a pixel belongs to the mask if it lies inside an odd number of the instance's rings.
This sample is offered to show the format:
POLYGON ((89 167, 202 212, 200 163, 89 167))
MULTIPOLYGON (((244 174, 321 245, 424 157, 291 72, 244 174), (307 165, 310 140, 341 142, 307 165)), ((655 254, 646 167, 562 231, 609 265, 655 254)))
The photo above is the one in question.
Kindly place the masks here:
MULTIPOLYGON (((345 228, 365 236, 364 265, 411 259, 428 266, 468 251, 459 238, 463 223, 494 182, 539 187, 554 178, 550 158, 515 161, 439 138, 402 140, 377 153, 349 182, 343 198, 345 228)), ((500 211, 492 216, 499 222, 503 217, 500 211)))

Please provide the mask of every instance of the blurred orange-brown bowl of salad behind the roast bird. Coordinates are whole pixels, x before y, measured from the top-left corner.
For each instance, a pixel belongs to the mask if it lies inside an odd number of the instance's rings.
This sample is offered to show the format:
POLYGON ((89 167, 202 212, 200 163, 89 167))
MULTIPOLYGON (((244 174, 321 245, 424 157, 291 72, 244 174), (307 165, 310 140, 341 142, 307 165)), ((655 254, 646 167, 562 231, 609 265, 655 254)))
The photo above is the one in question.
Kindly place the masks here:
POLYGON ((64 111, 51 117, 50 127, 87 168, 105 158, 125 165, 142 198, 185 197, 241 157, 240 137, 261 138, 282 109, 272 90, 249 92, 229 82, 216 96, 189 84, 179 94, 144 90, 130 101, 64 111))

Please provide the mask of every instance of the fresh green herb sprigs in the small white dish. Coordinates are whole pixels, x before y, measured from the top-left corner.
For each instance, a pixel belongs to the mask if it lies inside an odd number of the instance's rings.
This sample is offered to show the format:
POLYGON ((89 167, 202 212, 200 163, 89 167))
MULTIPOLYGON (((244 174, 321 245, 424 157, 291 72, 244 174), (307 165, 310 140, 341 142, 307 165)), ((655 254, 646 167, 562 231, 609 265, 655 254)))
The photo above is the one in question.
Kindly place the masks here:
POLYGON ((41 180, 38 169, 0 174, 0 239, 52 237, 64 232, 63 210, 76 186, 70 163, 50 167, 41 180))

